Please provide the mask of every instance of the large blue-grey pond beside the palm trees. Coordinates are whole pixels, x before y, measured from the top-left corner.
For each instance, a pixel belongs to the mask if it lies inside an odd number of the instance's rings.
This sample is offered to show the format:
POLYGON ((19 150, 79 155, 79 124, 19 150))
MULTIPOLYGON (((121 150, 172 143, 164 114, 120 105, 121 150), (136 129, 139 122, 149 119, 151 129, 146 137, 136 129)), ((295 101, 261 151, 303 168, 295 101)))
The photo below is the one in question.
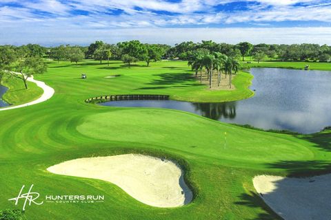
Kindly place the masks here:
POLYGON ((103 102, 112 107, 178 109, 234 124, 260 129, 314 133, 331 125, 331 72, 253 68, 250 89, 255 96, 223 103, 174 100, 123 100, 103 102))

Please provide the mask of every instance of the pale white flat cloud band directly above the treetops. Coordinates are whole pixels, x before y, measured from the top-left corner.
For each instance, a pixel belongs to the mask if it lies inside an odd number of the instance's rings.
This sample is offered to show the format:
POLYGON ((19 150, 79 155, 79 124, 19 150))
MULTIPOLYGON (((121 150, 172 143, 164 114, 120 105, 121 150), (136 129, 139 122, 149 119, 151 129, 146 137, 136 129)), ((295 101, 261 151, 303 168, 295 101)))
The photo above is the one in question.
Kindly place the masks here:
MULTIPOLYGON (((124 26, 124 25, 123 25, 124 26)), ((0 44, 41 43, 43 45, 80 44, 88 45, 102 40, 108 43, 137 39, 144 43, 168 43, 182 41, 212 40, 225 43, 318 43, 331 45, 331 28, 70 28, 61 27, 10 28, 0 34, 0 44), (24 34, 24 39, 21 36, 24 34)))

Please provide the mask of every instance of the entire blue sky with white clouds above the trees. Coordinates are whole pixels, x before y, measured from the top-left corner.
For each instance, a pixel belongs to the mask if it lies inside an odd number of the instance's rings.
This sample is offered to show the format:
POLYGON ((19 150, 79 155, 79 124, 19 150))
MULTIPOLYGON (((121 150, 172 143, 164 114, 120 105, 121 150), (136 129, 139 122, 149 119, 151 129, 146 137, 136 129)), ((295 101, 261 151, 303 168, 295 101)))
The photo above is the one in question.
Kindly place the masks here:
POLYGON ((330 0, 0 0, 0 44, 331 45, 330 0))

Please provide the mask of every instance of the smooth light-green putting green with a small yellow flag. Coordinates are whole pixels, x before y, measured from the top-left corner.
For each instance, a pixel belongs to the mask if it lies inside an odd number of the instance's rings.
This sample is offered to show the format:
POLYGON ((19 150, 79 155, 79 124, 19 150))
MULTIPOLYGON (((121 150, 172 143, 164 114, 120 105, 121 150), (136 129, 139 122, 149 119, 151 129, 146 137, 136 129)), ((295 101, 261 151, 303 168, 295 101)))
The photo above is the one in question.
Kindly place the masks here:
POLYGON ((241 129, 168 109, 119 109, 97 113, 84 119, 77 126, 77 131, 99 140, 145 146, 154 144, 160 148, 214 157, 231 162, 233 166, 314 157, 307 147, 288 140, 284 135, 266 135, 265 132, 241 129), (224 132, 227 132, 226 146, 224 132))

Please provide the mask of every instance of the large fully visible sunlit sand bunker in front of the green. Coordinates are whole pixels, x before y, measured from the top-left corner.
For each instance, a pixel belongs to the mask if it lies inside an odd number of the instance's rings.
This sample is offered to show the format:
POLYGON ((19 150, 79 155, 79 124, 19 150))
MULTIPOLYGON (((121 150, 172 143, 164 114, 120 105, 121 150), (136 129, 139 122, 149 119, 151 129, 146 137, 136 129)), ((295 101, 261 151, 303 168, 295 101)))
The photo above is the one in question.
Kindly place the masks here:
POLYGON ((60 175, 110 181, 150 206, 170 208, 192 200, 181 168, 157 157, 126 154, 81 158, 50 166, 47 170, 60 175))

